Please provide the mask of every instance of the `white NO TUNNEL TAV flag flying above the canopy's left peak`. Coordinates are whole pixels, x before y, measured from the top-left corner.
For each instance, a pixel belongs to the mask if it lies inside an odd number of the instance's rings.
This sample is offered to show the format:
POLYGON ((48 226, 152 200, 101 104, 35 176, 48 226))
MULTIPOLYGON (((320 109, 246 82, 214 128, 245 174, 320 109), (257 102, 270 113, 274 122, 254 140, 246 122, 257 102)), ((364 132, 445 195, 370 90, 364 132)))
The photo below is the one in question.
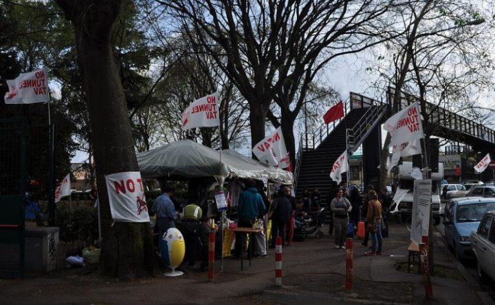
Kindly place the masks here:
POLYGON ((182 130, 196 127, 215 127, 220 125, 218 92, 203 96, 194 101, 182 112, 182 130))

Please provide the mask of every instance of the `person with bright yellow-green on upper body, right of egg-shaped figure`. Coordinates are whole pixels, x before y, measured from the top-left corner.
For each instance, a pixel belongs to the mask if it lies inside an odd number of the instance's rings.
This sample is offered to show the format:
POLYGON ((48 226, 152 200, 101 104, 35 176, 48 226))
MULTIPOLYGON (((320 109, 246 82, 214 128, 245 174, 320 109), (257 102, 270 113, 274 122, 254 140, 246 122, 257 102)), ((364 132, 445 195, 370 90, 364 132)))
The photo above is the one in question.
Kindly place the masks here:
POLYGON ((186 255, 184 262, 188 266, 194 266, 196 263, 197 253, 199 249, 199 222, 203 218, 203 211, 196 204, 191 203, 184 207, 184 215, 182 215, 182 235, 186 242, 186 255))

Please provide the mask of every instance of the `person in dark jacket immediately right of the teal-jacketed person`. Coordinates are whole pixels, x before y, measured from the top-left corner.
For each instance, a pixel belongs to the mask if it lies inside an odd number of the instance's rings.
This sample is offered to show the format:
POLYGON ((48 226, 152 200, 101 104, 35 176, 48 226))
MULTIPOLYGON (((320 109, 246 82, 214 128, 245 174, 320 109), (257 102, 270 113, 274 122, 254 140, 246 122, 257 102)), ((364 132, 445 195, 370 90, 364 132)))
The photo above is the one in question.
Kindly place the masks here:
POLYGON ((292 213, 292 207, 289 198, 287 198, 287 189, 290 191, 288 187, 281 189, 278 198, 272 203, 272 210, 269 215, 272 220, 272 248, 275 247, 278 236, 282 237, 282 244, 285 244, 285 231, 292 213))

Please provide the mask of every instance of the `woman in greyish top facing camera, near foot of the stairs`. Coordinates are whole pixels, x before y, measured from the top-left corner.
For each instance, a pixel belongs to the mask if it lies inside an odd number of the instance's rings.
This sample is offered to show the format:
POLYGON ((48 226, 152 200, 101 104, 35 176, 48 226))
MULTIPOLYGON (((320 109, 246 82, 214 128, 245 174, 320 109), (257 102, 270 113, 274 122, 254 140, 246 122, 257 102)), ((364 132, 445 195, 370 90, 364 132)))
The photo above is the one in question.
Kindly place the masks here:
POLYGON ((337 249, 345 249, 344 241, 347 235, 347 224, 349 222, 348 212, 352 211, 351 202, 344 197, 344 190, 337 190, 337 197, 330 203, 333 213, 333 229, 335 230, 335 245, 337 249))

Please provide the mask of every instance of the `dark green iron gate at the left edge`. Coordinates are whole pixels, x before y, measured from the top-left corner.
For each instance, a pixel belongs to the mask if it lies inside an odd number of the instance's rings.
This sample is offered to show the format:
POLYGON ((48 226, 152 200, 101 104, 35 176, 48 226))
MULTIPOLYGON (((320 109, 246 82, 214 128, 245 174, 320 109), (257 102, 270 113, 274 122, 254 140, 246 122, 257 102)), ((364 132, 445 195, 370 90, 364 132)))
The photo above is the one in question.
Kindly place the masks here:
POLYGON ((27 121, 0 120, 0 277, 23 277, 27 121))

